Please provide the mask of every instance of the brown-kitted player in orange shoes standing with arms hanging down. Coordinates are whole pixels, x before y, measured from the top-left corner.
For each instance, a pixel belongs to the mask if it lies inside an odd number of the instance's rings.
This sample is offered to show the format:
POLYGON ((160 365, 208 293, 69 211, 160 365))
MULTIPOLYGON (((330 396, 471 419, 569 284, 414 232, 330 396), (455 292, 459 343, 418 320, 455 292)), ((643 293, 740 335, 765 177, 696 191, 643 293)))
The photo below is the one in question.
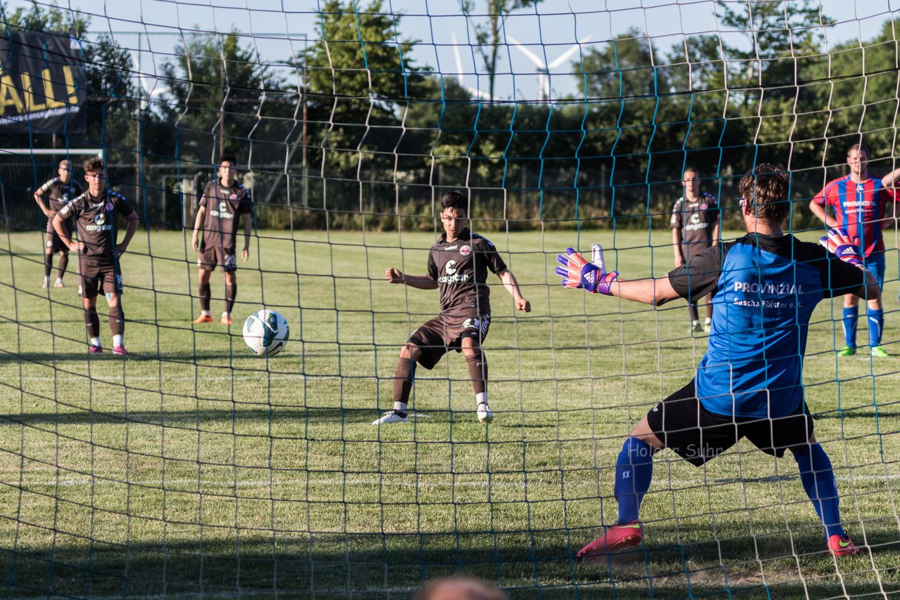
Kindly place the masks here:
POLYGON ((235 157, 222 155, 219 161, 219 178, 206 184, 197 218, 193 221, 191 246, 199 254, 197 291, 200 295, 200 317, 193 320, 194 324, 212 322, 210 275, 216 264, 221 264, 225 275, 225 310, 220 322, 222 325, 231 325, 231 309, 234 308, 234 300, 238 295, 238 260, 235 255, 238 220, 244 221, 244 249, 240 251, 240 262, 246 263, 250 255, 253 203, 247 189, 234 179, 236 165, 235 157))

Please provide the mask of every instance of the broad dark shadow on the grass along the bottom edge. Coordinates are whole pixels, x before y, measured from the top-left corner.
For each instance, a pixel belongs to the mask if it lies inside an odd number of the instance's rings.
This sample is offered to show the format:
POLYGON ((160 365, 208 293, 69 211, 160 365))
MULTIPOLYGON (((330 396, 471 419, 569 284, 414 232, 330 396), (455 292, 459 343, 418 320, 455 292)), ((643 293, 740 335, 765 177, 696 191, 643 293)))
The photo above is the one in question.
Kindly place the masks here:
MULTIPOLYGON (((21 526, 23 534, 34 533, 31 525, 21 526)), ((170 527, 185 532, 192 526, 170 527)), ((124 544, 59 532, 52 551, 21 545, 2 551, 0 589, 15 597, 408 598, 428 578, 457 573, 494 581, 513 597, 793 598, 842 595, 842 589, 850 596, 880 595, 900 588, 896 566, 879 569, 878 577, 871 570, 872 560, 893 559, 896 565, 897 542, 887 534, 869 541, 892 547, 880 546, 872 558, 868 552, 845 557, 835 567, 813 532, 795 533, 793 551, 783 531, 685 546, 654 546, 645 538, 643 548, 590 563, 572 558, 574 540, 588 537, 584 531, 309 534, 205 528, 200 535, 193 525, 193 532, 190 538, 168 533, 158 543, 124 544)), ((664 526, 648 527, 648 533, 676 539, 664 526)))

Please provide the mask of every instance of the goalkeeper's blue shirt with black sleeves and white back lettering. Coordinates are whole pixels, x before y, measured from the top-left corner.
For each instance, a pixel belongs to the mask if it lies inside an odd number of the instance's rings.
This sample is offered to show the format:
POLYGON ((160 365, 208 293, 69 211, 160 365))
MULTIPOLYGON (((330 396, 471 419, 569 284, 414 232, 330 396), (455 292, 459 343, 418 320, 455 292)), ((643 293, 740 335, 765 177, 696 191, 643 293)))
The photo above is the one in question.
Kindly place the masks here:
POLYGON ((857 291, 865 273, 793 236, 747 234, 669 273, 689 301, 713 294, 700 403, 718 415, 779 417, 803 401, 809 319, 821 300, 857 291))

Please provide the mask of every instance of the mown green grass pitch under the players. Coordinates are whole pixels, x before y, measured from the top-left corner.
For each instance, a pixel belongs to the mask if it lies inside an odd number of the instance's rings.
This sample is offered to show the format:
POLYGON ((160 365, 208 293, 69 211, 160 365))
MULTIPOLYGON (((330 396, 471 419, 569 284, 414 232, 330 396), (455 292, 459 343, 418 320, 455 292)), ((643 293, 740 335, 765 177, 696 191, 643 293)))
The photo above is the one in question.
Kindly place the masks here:
MULTIPOLYGON (((683 302, 656 310, 563 290, 554 258, 602 241, 624 276, 662 276, 670 238, 654 233, 650 248, 646 232, 491 236, 533 307, 514 315, 493 278, 496 420, 476 421, 451 354, 419 370, 417 418, 379 431, 370 422, 391 406, 399 345, 437 310, 437 292, 390 286, 383 272, 424 273, 433 236, 266 232, 239 271, 229 331, 190 325, 185 238, 141 230, 122 259, 132 355, 88 360, 72 273, 67 289, 40 290, 39 234, 4 234, 4 594, 405 598, 457 572, 514 597, 900 591, 900 358, 838 360, 840 300, 815 314, 806 393, 848 532, 867 551, 835 562, 794 461, 742 442, 704 469, 659 454, 644 548, 572 560, 616 520, 623 437, 689 380, 706 340, 689 335, 683 302), (263 304, 292 326, 268 362, 239 328, 263 304)), ((885 337, 900 356, 890 256, 885 337)), ((221 297, 220 273, 212 282, 221 297)), ((111 345, 104 316, 101 331, 111 345)))

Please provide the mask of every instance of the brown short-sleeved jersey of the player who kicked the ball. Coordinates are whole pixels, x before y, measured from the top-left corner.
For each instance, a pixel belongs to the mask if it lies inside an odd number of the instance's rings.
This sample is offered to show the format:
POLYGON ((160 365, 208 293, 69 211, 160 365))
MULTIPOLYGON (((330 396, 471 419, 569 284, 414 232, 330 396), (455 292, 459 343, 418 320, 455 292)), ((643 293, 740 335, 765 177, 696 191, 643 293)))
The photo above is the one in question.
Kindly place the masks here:
POLYGON ((465 229, 454 242, 446 235, 431 246, 428 276, 441 291, 441 312, 478 317, 491 314, 488 270, 506 271, 506 263, 491 242, 465 229))

